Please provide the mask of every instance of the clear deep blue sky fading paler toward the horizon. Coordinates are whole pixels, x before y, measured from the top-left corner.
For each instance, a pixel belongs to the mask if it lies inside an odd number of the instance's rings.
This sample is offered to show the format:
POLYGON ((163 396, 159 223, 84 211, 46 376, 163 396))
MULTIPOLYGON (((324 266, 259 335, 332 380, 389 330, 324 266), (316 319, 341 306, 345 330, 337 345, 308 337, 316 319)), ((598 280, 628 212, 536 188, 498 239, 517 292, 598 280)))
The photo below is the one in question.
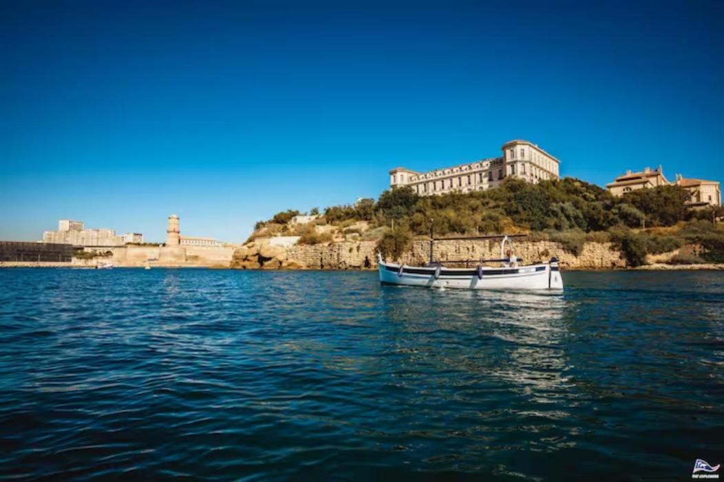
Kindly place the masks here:
POLYGON ((57 219, 239 242, 538 143, 724 181, 724 1, 0 2, 0 240, 57 219))

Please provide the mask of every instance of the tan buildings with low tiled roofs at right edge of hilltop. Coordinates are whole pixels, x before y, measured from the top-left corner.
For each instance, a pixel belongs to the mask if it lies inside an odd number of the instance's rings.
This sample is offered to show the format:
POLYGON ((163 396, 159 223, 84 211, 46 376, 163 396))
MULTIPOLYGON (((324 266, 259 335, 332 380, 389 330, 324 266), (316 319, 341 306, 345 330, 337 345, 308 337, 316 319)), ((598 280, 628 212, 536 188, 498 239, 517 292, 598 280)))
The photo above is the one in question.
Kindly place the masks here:
POLYGON ((662 166, 658 166, 657 169, 647 167, 639 172, 626 171, 626 174, 620 175, 613 182, 608 183, 606 187, 611 194, 622 196, 631 193, 631 191, 666 185, 677 185, 688 190, 691 198, 686 204, 690 208, 721 206, 722 197, 719 182, 687 178, 681 174, 676 174, 675 181, 670 182, 664 176, 662 166))

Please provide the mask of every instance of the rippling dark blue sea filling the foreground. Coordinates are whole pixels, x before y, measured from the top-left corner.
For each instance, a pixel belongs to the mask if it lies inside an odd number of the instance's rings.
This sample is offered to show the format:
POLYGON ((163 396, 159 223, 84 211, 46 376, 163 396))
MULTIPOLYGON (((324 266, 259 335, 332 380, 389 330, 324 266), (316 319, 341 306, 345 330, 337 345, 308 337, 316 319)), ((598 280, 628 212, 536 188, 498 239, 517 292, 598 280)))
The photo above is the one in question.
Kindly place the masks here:
POLYGON ((724 273, 563 275, 550 295, 2 269, 0 479, 685 481, 724 464, 724 273))

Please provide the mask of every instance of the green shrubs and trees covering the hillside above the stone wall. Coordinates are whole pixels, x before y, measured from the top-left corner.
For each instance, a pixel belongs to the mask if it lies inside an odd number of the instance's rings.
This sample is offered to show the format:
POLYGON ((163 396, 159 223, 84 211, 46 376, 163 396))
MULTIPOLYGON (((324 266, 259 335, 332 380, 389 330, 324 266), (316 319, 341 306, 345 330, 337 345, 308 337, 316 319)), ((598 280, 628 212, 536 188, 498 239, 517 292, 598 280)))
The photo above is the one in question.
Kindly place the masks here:
MULTIPOLYGON (((665 253, 686 243, 704 247, 704 261, 724 262, 724 231, 712 223, 724 210, 694 211, 686 207, 689 193, 682 187, 636 190, 615 198, 607 190, 574 178, 531 184, 509 178, 500 187, 473 193, 418 196, 409 187, 384 191, 377 200, 330 206, 312 213, 316 225, 350 228, 364 221, 361 239, 378 240, 385 255, 397 257, 415 237, 500 233, 530 233, 532 240, 560 242, 580 254, 585 242, 613 242, 630 266, 644 263, 648 253, 665 253)), ((287 233, 287 223, 299 214, 289 210, 259 221, 256 233, 287 233)), ((327 242, 329 236, 295 227, 303 242, 327 242), (305 231, 306 230, 306 231, 305 231), (302 232, 304 231, 304 232, 302 232)), ((357 230, 359 232, 359 230, 357 230)))

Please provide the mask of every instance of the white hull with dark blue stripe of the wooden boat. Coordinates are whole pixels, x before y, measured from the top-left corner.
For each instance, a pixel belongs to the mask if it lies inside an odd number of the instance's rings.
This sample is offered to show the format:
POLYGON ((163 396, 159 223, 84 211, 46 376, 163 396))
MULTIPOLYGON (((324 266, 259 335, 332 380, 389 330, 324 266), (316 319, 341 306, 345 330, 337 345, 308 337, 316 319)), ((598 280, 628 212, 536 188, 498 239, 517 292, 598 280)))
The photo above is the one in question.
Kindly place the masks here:
POLYGON ((563 289, 557 263, 505 268, 419 268, 379 263, 383 284, 455 289, 563 289))

